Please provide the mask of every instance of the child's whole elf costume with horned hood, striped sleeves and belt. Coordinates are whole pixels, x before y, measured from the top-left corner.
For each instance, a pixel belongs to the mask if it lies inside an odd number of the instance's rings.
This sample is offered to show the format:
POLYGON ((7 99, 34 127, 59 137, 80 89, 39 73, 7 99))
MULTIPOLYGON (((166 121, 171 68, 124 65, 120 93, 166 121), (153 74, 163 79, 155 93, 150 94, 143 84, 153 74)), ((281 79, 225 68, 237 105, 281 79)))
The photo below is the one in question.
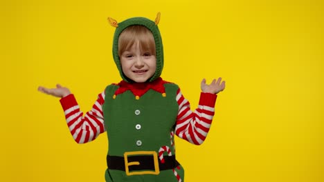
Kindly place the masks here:
POLYGON ((93 141, 107 131, 109 150, 106 181, 184 181, 184 171, 176 160, 174 134, 190 143, 204 142, 213 120, 217 95, 201 93, 192 112, 178 85, 163 81, 163 45, 156 21, 143 17, 117 23, 114 34, 114 61, 123 81, 111 84, 98 95, 93 108, 84 115, 73 94, 60 100, 73 139, 93 141), (156 44, 156 72, 145 83, 134 83, 123 74, 118 57, 118 37, 129 26, 145 26, 156 44))

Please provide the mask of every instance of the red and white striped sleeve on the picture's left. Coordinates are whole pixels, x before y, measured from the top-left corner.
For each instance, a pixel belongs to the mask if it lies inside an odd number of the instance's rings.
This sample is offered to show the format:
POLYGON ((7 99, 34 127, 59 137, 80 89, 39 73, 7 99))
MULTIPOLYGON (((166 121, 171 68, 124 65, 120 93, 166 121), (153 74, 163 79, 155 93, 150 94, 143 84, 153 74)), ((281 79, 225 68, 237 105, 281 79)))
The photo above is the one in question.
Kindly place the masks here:
POLYGON ((66 123, 77 143, 93 141, 100 133, 105 132, 102 112, 102 105, 105 103, 105 91, 98 95, 92 109, 84 117, 73 94, 60 99, 60 103, 64 110, 66 123))

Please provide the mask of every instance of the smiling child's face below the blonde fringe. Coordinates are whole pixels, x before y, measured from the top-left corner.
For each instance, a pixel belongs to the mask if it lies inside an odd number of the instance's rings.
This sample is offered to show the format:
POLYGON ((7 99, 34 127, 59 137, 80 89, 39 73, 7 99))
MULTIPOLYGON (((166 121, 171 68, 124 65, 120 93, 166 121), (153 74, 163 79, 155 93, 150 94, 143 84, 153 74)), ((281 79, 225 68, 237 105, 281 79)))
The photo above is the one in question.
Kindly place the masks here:
POLYGON ((144 83, 150 79, 156 70, 156 57, 149 51, 141 50, 136 41, 130 50, 125 50, 120 55, 123 73, 136 83, 144 83))

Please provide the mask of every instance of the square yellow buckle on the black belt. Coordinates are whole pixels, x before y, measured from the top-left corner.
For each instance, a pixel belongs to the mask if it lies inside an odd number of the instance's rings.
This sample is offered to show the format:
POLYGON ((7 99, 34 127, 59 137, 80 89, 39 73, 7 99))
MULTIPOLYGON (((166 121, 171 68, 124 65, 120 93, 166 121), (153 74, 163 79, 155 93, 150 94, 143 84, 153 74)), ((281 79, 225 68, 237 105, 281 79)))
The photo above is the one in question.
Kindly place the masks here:
POLYGON ((160 173, 158 156, 155 151, 125 152, 124 153, 124 161, 125 161, 125 172, 126 172, 127 176, 140 175, 140 174, 159 174, 160 173), (147 170, 147 171, 129 172, 129 165, 140 165, 140 163, 138 161, 129 163, 127 157, 130 155, 152 155, 153 159, 154 159, 154 171, 147 170))

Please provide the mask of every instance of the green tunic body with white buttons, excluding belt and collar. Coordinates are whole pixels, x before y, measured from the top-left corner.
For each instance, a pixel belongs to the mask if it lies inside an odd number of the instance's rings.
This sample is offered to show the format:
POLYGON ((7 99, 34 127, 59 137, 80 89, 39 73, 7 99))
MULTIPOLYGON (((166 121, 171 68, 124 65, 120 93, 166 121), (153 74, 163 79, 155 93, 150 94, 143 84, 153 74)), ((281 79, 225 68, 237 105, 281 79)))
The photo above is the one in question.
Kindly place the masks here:
MULTIPOLYGON (((136 100, 134 94, 127 90, 118 94, 114 93, 118 85, 109 85, 105 91, 105 103, 102 110, 105 118, 105 129, 109 139, 110 156, 124 156, 125 152, 155 151, 159 154, 162 146, 168 146, 174 154, 174 132, 179 105, 176 101, 178 86, 165 83, 165 94, 148 90, 140 99, 136 100), (171 141, 172 140, 172 141, 171 141)), ((167 152, 164 155, 168 155, 167 152)), ((183 181, 184 171, 175 169, 183 181)), ((176 182, 177 177, 173 170, 161 170, 159 174, 134 174, 127 175, 122 170, 107 169, 106 181, 147 181, 147 182, 176 182)))

